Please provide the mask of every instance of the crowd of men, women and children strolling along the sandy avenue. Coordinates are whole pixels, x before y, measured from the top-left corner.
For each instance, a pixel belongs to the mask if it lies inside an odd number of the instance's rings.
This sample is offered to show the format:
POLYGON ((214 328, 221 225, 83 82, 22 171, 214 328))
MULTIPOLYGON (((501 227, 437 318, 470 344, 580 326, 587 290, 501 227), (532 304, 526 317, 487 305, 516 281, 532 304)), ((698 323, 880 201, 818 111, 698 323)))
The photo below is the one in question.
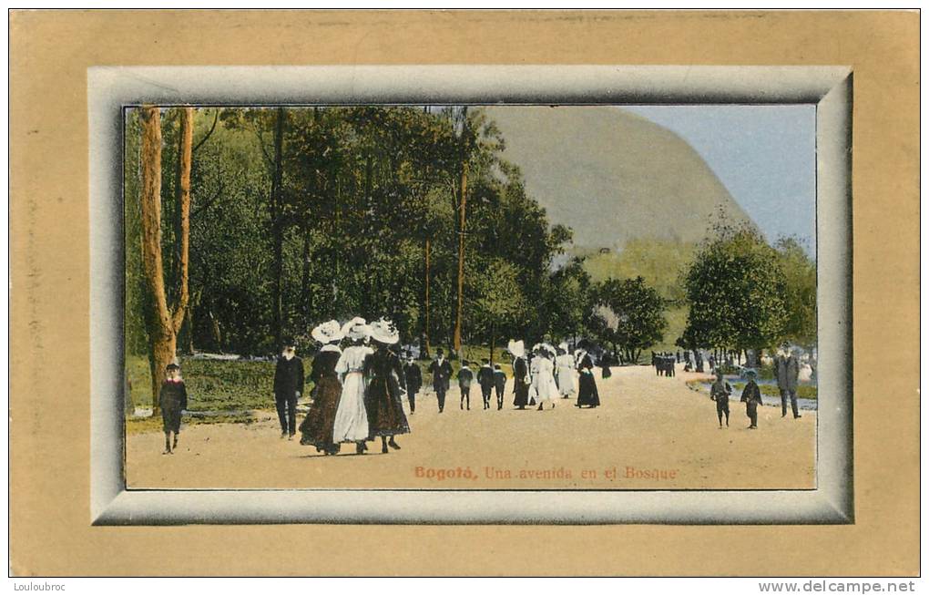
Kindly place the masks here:
MULTIPOLYGON (((403 410, 404 397, 410 412, 416 411, 416 395, 423 388, 423 375, 411 350, 399 354, 399 332, 386 318, 367 323, 356 317, 346 324, 329 321, 315 327, 310 333, 320 344, 313 358, 308 379, 313 383, 311 401, 306 417, 296 425, 297 400, 307 380, 303 361, 297 357, 293 340, 285 341, 274 373, 274 396, 281 424, 281 438, 293 440, 300 432, 300 443, 314 446, 324 456, 337 455, 342 444, 354 444, 356 454, 368 450, 367 443, 381 441, 381 452, 399 450, 397 436, 410 432, 410 423, 403 410)), ((594 376, 595 364, 601 364, 604 378, 609 377, 607 354, 595 357, 594 345, 587 339, 579 341, 574 350, 567 342, 553 347, 537 343, 526 350, 522 340, 510 340, 507 351, 512 357, 513 405, 524 410, 554 409, 557 400, 576 395, 574 406, 595 408, 600 405, 594 376)), ((652 352, 652 365, 659 376, 674 376, 674 365, 681 362, 680 352, 652 352)), ((702 357, 694 350, 697 369, 702 369, 702 357)), ((685 369, 692 366, 690 352, 684 354, 685 369)), ((713 365, 713 358, 710 360, 713 365)), ((477 384, 484 410, 492 408, 493 398, 497 410, 504 408, 506 373, 500 364, 484 359, 476 369, 463 360, 455 375, 460 392, 459 407, 471 409, 471 388, 477 384)), ((800 364, 796 352, 785 344, 774 358, 772 367, 778 380, 781 396, 781 417, 787 415, 791 404, 794 418, 801 417, 797 406, 797 383, 800 364)), ((714 366, 715 381, 710 398, 716 404, 719 427, 729 425, 729 397, 731 385, 725 380, 724 370, 714 366)), ((445 396, 451 386, 452 366, 442 349, 427 368, 432 375, 438 413, 445 410, 445 396)), ((187 408, 187 390, 180 377, 177 364, 169 364, 159 404, 164 422, 164 454, 177 449, 182 412, 187 408)), ((756 430, 757 407, 762 403, 761 390, 753 369, 744 370, 746 385, 741 402, 746 405, 752 430, 756 430)))

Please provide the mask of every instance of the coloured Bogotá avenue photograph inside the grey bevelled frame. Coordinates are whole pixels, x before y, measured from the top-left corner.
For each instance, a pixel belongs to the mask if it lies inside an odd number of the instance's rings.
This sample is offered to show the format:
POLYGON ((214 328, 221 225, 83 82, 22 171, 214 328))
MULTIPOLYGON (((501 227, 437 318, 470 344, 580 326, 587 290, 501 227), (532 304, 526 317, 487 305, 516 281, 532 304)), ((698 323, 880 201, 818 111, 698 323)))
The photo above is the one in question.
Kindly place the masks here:
POLYGON ((815 104, 123 115, 126 489, 816 488, 815 104))

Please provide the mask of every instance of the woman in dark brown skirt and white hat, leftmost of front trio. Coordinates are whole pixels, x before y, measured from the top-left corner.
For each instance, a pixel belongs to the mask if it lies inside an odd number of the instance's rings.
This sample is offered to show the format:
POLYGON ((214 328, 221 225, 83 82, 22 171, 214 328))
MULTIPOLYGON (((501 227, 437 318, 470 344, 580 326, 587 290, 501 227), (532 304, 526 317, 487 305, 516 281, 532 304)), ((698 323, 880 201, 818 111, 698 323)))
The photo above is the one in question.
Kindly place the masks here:
POLYGON ((331 320, 313 329, 313 338, 322 343, 320 351, 313 358, 309 379, 315 384, 313 403, 309 405, 307 417, 300 424, 300 443, 316 446, 316 452, 334 455, 339 452, 339 444, 333 442, 335 412, 342 397, 342 384, 339 382, 335 365, 342 357, 338 342, 342 339, 342 325, 331 320))

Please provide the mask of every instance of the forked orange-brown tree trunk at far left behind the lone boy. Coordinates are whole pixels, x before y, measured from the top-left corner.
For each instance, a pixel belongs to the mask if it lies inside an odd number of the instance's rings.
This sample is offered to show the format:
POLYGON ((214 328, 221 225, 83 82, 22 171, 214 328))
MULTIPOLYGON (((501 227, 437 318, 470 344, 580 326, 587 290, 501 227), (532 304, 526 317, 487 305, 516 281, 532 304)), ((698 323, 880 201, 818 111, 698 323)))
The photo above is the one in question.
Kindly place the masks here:
POLYGON ((150 292, 149 340, 152 415, 158 412, 158 392, 164 381, 164 368, 177 357, 177 333, 184 323, 189 300, 188 269, 190 254, 190 160, 193 140, 193 108, 181 112, 179 166, 180 242, 179 288, 177 303, 169 306, 164 288, 162 258, 162 128, 161 111, 156 106, 142 108, 141 148, 141 248, 145 279, 150 292))

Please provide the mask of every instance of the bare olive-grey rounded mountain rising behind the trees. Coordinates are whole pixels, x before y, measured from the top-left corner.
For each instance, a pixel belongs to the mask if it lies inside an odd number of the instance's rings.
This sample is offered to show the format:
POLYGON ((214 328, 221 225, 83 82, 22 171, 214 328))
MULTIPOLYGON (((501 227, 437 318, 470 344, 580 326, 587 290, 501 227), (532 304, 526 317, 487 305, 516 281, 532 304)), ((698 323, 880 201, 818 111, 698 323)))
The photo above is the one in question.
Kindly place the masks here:
POLYGON ((577 247, 622 247, 632 238, 694 242, 722 205, 748 216, 687 141, 611 106, 488 106, 504 159, 577 247))

